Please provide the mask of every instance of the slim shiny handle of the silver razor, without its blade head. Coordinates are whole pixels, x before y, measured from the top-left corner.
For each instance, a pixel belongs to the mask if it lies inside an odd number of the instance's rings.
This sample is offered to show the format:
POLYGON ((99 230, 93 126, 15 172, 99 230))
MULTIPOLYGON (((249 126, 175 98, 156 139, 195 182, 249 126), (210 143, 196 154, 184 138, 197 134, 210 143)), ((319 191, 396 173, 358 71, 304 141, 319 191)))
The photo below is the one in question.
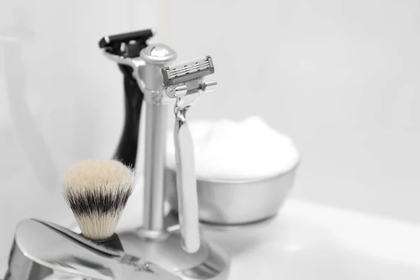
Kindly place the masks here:
POLYGON ((186 122, 186 111, 197 98, 198 94, 178 97, 175 105, 174 142, 179 225, 183 248, 188 253, 195 253, 200 248, 194 142, 186 122))

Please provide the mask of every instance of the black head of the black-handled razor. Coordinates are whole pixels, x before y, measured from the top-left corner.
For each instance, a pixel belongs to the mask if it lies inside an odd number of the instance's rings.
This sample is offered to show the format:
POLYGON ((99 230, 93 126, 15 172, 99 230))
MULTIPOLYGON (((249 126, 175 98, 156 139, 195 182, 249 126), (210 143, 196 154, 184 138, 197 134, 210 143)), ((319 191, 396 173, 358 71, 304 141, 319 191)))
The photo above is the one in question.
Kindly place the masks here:
POLYGON ((113 55, 137 57, 140 50, 146 47, 146 41, 151 36, 153 36, 151 29, 104 36, 99 40, 99 48, 104 48, 113 55))

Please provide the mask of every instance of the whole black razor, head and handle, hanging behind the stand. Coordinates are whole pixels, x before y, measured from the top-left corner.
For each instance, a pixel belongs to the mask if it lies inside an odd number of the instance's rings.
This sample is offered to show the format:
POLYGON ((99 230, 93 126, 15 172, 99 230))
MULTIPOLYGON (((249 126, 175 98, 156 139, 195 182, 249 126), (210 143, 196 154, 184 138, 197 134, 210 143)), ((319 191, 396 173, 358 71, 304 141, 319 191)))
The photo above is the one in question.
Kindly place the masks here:
MULTIPOLYGON (((151 29, 106 36, 99 41, 99 48, 104 48, 106 52, 113 55, 139 57, 140 51, 146 48, 146 41, 151 36, 153 36, 151 29)), ((137 80, 132 76, 134 69, 125 64, 118 64, 118 67, 124 76, 125 120, 123 134, 113 158, 123 162, 127 167, 134 168, 137 159, 141 105, 144 94, 140 90, 137 80)))

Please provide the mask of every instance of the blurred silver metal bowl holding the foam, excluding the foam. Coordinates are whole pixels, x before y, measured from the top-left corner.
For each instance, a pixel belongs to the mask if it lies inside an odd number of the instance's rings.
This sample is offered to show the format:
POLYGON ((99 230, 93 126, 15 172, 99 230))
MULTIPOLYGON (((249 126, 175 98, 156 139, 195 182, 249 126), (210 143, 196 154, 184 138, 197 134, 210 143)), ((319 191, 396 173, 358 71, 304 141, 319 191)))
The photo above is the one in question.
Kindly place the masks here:
MULTIPOLYGON (((197 179, 200 221, 214 225, 244 225, 277 214, 290 192, 297 170, 256 181, 197 179)), ((178 209, 176 172, 166 169, 165 191, 172 209, 178 209)))

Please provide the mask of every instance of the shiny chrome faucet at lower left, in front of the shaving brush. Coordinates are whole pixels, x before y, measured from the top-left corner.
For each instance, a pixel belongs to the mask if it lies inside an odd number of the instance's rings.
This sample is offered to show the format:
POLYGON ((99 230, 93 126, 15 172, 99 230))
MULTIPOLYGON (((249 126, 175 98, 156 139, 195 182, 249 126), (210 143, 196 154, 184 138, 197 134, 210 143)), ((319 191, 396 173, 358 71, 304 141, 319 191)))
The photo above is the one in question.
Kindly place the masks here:
POLYGON ((54 272, 103 280, 179 279, 151 262, 33 219, 18 224, 8 265, 5 280, 44 279, 54 272))

